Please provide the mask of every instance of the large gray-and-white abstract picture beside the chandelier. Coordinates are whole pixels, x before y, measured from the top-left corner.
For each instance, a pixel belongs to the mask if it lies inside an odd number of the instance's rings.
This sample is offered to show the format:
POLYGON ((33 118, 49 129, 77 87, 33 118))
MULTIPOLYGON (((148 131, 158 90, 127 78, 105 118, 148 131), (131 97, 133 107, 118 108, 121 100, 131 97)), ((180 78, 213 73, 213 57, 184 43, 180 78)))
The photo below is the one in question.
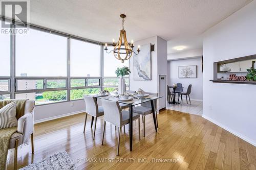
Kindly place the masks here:
POLYGON ((151 44, 141 45, 140 53, 133 57, 133 80, 151 80, 151 44))

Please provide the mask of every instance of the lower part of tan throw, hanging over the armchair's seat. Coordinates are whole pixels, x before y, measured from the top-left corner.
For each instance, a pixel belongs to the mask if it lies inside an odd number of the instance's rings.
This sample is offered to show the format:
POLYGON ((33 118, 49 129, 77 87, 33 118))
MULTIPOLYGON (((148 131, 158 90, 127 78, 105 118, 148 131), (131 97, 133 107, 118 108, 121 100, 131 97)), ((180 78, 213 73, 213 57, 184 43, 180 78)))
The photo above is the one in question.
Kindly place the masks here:
POLYGON ((5 169, 9 140, 13 133, 17 131, 17 127, 11 127, 6 129, 0 129, 0 169, 5 169))

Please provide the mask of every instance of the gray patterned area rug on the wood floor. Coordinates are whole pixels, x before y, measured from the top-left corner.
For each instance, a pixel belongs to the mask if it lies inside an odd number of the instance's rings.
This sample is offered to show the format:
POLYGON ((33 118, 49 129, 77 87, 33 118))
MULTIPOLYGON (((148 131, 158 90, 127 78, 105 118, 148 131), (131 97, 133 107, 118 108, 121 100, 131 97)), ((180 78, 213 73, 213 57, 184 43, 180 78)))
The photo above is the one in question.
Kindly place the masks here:
POLYGON ((74 162, 70 159, 69 154, 66 151, 62 151, 59 153, 56 153, 52 156, 49 156, 39 162, 30 164, 28 166, 25 166, 23 168, 20 168, 22 170, 49 170, 49 169, 71 169, 75 170, 76 165, 74 162))

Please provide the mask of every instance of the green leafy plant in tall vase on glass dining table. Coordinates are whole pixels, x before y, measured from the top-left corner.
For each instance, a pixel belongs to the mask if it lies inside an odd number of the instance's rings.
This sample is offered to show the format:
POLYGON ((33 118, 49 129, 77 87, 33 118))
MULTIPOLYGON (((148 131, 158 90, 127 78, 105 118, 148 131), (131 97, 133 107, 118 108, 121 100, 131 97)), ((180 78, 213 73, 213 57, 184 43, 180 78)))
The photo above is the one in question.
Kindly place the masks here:
POLYGON ((124 94, 124 92, 126 91, 126 87, 125 87, 125 82, 124 82, 124 76, 127 76, 131 73, 131 70, 129 69, 129 67, 117 67, 115 74, 117 77, 119 77, 119 84, 118 84, 118 93, 120 94, 124 94))

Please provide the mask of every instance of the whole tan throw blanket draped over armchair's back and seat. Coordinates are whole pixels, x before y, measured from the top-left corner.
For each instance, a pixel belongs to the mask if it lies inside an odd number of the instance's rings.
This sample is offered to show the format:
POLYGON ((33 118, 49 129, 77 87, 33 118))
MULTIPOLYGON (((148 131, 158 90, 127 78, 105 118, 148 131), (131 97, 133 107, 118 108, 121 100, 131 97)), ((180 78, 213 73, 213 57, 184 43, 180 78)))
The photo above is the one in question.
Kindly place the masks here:
MULTIPOLYGON (((19 119, 24 115, 26 100, 5 100, 0 101, 0 109, 11 102, 16 102, 16 118, 19 119)), ((17 132, 17 127, 0 129, 0 170, 5 169, 9 140, 13 133, 17 132)))

